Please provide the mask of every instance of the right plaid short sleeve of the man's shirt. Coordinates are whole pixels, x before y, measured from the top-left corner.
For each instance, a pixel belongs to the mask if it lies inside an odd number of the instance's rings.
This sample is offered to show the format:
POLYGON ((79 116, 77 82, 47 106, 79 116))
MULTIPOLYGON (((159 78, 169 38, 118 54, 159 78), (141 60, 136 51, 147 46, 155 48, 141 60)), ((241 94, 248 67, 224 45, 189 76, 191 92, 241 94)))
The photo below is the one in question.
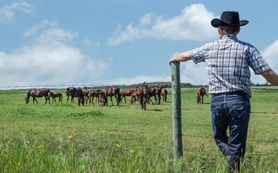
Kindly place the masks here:
POLYGON ((263 71, 270 69, 270 66, 268 66, 259 51, 254 47, 250 48, 250 57, 247 61, 256 75, 259 75, 263 73, 263 71))

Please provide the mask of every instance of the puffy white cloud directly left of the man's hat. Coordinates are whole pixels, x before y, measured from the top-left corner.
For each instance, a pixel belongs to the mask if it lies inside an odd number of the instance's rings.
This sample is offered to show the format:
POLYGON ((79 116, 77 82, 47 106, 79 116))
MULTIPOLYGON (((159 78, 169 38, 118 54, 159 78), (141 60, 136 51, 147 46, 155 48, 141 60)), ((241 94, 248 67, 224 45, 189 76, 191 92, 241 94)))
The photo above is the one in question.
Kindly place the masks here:
POLYGON ((209 21, 215 18, 201 3, 183 8, 181 14, 165 19, 153 13, 144 15, 137 26, 128 24, 125 30, 117 28, 115 36, 108 39, 111 45, 133 42, 136 39, 203 40, 216 37, 209 21))

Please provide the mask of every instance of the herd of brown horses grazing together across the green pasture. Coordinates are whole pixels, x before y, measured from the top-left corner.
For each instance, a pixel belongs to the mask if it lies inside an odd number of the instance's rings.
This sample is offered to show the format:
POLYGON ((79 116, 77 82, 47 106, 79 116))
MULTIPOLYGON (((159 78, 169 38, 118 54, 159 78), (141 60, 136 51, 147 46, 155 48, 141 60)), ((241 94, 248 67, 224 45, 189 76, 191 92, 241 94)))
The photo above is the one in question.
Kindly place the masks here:
MULTIPOLYGON (((89 105, 95 105, 94 100, 99 106, 108 106, 108 97, 111 98, 111 104, 113 105, 113 96, 117 101, 117 105, 119 105, 123 99, 126 103, 126 96, 129 96, 129 104, 138 101, 142 110, 146 110, 146 105, 150 102, 152 102, 152 104, 161 104, 161 98, 163 98, 163 102, 167 102, 167 89, 165 89, 165 86, 149 87, 145 83, 139 86, 138 89, 122 89, 122 91, 120 91, 118 86, 108 86, 104 91, 101 89, 88 91, 87 87, 69 87, 65 90, 65 94, 67 102, 69 102, 71 98, 71 102, 74 103, 74 98, 77 98, 79 106, 85 103, 88 104, 88 102, 89 105), (151 99, 152 97, 154 97, 154 102, 151 99)), ((204 103, 204 95, 206 95, 206 90, 201 86, 197 89, 197 103, 204 103)), ((47 104, 47 102, 50 104, 50 98, 52 98, 52 103, 56 102, 56 98, 59 99, 59 102, 62 102, 63 94, 58 92, 53 93, 49 89, 30 89, 25 98, 26 104, 28 104, 31 97, 33 98, 33 103, 38 103, 36 98, 44 97, 45 104, 47 104)))

